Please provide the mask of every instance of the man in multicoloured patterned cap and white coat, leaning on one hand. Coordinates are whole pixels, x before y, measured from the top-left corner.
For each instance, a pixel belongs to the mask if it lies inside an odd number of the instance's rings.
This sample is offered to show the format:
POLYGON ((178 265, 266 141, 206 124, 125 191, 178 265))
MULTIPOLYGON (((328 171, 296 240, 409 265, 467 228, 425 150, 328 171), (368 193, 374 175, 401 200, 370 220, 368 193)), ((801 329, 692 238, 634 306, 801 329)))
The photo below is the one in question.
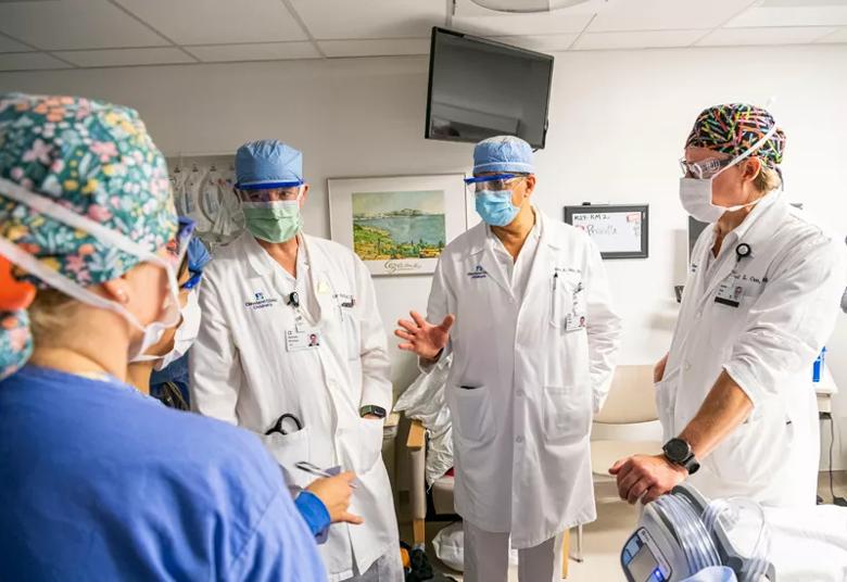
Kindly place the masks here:
POLYGON ((842 241, 779 190, 784 147, 770 113, 741 103, 705 110, 688 136, 680 198, 711 226, 656 365, 663 454, 611 468, 630 503, 685 479, 712 498, 816 503, 812 362, 833 330, 847 262, 842 241))

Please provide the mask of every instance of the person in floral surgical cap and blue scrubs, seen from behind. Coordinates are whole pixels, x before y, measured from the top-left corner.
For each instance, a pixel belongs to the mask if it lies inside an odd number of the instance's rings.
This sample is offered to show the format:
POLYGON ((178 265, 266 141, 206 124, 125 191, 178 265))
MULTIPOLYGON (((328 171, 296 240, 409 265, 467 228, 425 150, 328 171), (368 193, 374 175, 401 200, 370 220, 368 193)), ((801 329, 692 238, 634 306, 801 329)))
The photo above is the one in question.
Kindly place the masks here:
POLYGON ((177 322, 176 230, 136 112, 0 94, 0 579, 325 580, 257 439, 126 382, 177 322))

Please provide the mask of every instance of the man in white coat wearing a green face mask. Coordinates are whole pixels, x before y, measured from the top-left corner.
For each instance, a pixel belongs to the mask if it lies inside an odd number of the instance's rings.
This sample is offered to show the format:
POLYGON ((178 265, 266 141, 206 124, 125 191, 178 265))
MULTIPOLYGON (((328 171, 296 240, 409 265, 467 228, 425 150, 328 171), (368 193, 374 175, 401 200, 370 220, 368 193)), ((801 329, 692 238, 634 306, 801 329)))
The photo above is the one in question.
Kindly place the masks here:
POLYGON ((330 580, 402 580, 381 457, 390 364, 370 274, 349 249, 301 232, 299 151, 246 143, 236 174, 246 231, 205 271, 192 407, 262 435, 295 484, 314 479, 302 461, 355 471, 350 510, 364 524, 330 529, 330 580))

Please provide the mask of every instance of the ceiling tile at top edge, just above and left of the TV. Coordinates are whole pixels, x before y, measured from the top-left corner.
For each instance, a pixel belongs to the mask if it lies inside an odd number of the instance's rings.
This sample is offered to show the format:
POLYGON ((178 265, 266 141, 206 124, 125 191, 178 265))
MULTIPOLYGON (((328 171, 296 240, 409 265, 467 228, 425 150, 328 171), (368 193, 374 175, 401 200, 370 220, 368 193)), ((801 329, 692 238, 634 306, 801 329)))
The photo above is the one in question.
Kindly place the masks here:
POLYGON ((447 17, 444 0, 291 0, 291 5, 317 39, 422 38, 447 17))

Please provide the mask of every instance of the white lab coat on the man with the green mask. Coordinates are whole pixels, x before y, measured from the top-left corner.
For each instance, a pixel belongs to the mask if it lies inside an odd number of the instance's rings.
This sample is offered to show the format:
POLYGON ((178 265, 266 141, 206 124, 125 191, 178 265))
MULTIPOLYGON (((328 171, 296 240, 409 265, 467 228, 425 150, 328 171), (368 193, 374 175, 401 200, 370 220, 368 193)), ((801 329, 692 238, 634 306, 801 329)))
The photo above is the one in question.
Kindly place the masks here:
MULTIPOLYGON (((358 488, 350 511, 365 524, 333 524, 320 546, 330 580, 353 575, 396 552, 397 526, 382 463, 382 422, 365 420, 366 404, 391 408, 387 338, 365 265, 350 250, 304 236, 312 303, 321 340, 317 350, 288 352, 294 308, 280 290, 285 270, 245 232, 223 248, 204 273, 203 322, 191 355, 191 401, 200 413, 256 432, 276 459, 305 486, 315 476, 300 460, 354 470, 358 488), (352 307, 344 306, 354 302, 352 307), (265 431, 283 413, 303 429, 265 431)), ((301 298, 301 303, 307 298, 301 298)))

